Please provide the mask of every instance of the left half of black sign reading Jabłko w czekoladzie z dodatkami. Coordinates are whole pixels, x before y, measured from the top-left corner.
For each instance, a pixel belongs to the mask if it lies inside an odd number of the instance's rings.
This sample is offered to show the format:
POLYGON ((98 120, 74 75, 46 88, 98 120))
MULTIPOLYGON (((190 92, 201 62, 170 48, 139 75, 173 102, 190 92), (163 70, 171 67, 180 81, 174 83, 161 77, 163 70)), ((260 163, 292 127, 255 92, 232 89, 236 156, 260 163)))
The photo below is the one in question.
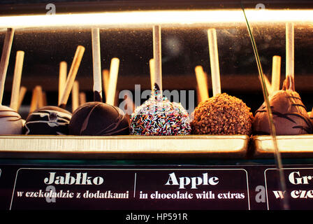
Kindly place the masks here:
POLYGON ((133 173, 115 169, 22 168, 10 209, 120 209, 133 183, 133 173))

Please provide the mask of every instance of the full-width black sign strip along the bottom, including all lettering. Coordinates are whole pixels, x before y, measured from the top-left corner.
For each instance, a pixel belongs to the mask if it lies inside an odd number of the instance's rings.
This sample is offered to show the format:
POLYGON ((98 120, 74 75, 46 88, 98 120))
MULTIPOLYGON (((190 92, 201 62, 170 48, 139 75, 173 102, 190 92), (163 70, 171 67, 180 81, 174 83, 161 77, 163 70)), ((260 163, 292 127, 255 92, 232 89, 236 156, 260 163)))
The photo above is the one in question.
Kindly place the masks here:
POLYGON ((312 167, 0 164, 0 210, 313 209, 312 167))

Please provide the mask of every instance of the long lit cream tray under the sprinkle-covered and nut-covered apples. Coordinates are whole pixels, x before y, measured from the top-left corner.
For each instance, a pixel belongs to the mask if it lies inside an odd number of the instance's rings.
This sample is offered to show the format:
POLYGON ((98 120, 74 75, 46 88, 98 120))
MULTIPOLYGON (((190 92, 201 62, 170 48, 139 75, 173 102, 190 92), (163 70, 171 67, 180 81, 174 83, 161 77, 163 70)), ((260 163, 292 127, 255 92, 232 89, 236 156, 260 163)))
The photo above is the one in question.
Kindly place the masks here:
POLYGON ((1 136, 0 158, 245 158, 247 135, 1 136))

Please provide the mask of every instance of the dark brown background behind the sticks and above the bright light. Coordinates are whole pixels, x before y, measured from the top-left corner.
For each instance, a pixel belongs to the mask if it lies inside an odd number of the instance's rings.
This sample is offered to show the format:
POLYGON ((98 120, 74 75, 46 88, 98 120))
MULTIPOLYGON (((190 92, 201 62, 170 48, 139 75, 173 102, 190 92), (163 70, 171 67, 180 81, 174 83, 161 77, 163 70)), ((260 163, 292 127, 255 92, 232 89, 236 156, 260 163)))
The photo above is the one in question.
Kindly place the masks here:
MULTIPOLYGON (((151 8, 238 8, 239 1, 1 1, 0 13, 22 15, 46 13, 45 4, 55 3, 57 13, 78 11, 128 10, 151 8), (18 2, 18 3, 17 3, 18 2), (98 6, 98 7, 97 7, 98 6), (101 8, 102 7, 102 8, 101 8)), ((254 1, 245 1, 247 8, 255 6, 254 1)), ((266 8, 305 8, 308 1, 264 1, 266 8)), ((162 71, 163 90, 196 90, 194 67, 202 65, 208 73, 209 94, 212 97, 208 36, 210 27, 173 27, 162 29, 162 71)), ((252 111, 263 103, 256 60, 247 27, 242 22, 222 25, 217 29, 219 48, 219 69, 221 90, 242 99, 252 111)), ((261 57, 265 75, 270 79, 272 56, 282 57, 281 86, 285 76, 285 27, 284 24, 252 24, 254 38, 261 57)), ((102 69, 109 69, 110 59, 118 57, 119 78, 117 90, 133 90, 136 84, 141 90, 150 89, 149 59, 152 58, 152 29, 101 29, 102 69)), ((0 30, 3 43, 5 30, 0 30)), ((13 39, 10 64, 6 76, 3 104, 10 103, 15 55, 24 50, 22 83, 27 87, 23 101, 22 116, 27 116, 27 106, 31 101, 31 91, 41 85, 48 97, 48 104, 57 104, 59 62, 66 61, 71 66, 75 48, 84 45, 85 55, 78 71, 80 90, 86 92, 87 101, 92 101, 92 40, 91 29, 86 27, 38 27, 17 29, 13 39)), ((295 81, 296 90, 310 111, 313 106, 312 27, 295 25, 295 81)), ((2 50, 2 44, 0 44, 2 50)), ((196 99, 195 99, 195 102, 196 99)), ((68 100, 71 110, 71 97, 68 100)))

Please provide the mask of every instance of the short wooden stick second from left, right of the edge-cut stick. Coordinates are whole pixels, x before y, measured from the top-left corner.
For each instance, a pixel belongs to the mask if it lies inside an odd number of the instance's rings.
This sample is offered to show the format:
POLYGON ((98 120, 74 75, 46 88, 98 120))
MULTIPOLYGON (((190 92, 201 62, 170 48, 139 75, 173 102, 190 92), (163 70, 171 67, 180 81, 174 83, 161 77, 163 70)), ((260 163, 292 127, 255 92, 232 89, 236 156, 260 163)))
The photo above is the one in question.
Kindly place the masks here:
POLYGON ((10 101, 10 108, 15 111, 18 110, 18 99, 20 94, 23 62, 24 62, 24 51, 19 50, 16 52, 15 69, 10 101))

